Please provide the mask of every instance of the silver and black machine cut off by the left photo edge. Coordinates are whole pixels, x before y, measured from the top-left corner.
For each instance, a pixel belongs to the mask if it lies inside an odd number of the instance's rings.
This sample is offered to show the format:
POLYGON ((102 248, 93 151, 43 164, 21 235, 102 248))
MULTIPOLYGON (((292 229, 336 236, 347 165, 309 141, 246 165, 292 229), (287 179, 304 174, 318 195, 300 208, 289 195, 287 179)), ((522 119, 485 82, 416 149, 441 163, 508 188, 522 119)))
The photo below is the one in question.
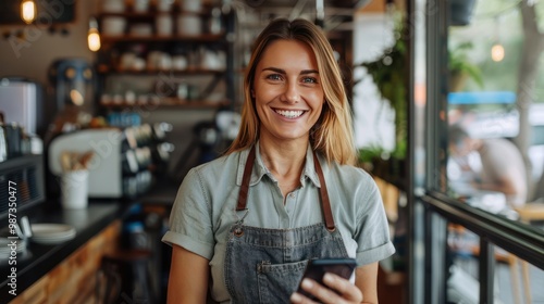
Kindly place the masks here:
MULTIPOLYGON (((46 200, 41 140, 42 90, 37 81, 0 78, 0 219, 46 200)), ((5 219, 5 223, 8 220, 5 219)))

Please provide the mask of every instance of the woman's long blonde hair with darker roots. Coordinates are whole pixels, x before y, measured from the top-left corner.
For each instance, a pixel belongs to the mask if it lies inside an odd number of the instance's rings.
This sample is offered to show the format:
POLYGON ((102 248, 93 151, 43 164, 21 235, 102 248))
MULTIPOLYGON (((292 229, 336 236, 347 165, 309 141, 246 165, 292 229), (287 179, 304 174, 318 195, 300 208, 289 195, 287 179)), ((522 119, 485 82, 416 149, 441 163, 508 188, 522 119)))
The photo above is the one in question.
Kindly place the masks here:
POLYGON ((356 149, 351 129, 351 110, 333 49, 323 31, 307 20, 272 21, 257 37, 244 81, 244 106, 238 136, 227 153, 247 149, 259 138, 260 121, 251 98, 257 64, 275 40, 296 40, 308 45, 316 55, 325 102, 318 123, 310 130, 310 144, 329 162, 355 164, 356 149))

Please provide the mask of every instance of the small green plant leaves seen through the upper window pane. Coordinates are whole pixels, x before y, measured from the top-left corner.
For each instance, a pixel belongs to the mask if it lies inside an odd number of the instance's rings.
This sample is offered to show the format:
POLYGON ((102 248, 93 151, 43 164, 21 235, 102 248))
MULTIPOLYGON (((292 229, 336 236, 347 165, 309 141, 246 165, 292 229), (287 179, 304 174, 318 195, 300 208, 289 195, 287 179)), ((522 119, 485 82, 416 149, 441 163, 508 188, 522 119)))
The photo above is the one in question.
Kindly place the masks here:
MULTIPOLYGON (((450 78, 470 77, 474 83, 483 88, 483 77, 480 67, 473 64, 468 55, 468 51, 473 48, 471 41, 461 42, 448 49, 448 68, 450 78)), ((455 85, 450 85, 450 90, 458 90, 455 85)))

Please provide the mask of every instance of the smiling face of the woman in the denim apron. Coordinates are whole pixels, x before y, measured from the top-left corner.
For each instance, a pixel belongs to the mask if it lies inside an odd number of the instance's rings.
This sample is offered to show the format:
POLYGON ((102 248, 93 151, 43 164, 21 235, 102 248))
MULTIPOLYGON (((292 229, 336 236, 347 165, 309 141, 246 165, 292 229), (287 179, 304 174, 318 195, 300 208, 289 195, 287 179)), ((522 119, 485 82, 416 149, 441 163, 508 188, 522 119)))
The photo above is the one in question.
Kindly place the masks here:
POLYGON ((260 139, 307 141, 324 101, 311 48, 296 40, 271 42, 254 79, 251 96, 261 122, 260 139))

